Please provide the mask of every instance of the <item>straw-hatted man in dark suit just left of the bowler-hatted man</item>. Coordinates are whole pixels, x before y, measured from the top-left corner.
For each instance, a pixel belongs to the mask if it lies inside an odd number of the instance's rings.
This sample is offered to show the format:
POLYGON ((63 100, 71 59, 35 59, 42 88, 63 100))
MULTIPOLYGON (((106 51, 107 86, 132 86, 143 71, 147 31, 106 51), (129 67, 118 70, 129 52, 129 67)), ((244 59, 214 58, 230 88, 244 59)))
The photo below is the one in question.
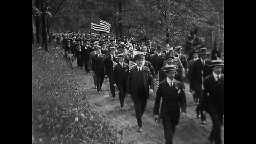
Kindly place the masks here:
POLYGON ((114 68, 113 83, 118 88, 121 110, 124 110, 124 98, 127 92, 129 65, 124 62, 124 54, 117 55, 118 63, 114 68))

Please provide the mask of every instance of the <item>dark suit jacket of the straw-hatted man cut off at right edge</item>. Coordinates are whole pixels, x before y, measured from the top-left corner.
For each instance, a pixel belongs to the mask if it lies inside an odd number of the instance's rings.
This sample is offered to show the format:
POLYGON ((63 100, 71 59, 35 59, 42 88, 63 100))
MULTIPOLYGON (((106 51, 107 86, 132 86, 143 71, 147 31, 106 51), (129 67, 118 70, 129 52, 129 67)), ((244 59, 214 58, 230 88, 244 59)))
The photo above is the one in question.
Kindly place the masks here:
POLYGON ((213 74, 204 79, 202 106, 208 113, 213 110, 217 111, 222 119, 224 114, 224 74, 221 74, 219 83, 214 79, 213 74))

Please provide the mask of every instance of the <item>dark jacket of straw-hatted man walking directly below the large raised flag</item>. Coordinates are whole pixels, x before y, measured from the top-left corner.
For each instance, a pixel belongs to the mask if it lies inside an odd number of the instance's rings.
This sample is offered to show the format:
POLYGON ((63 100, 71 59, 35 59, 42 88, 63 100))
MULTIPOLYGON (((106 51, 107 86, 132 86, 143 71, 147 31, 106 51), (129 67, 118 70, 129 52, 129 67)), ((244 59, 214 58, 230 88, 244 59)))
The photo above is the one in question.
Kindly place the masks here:
MULTIPOLYGON (((105 61, 106 55, 101 53, 101 57, 98 57, 98 54, 95 54, 92 57, 92 70, 96 75, 99 75, 101 73, 105 73, 105 61)), ((113 67, 112 67, 113 68, 113 67)))

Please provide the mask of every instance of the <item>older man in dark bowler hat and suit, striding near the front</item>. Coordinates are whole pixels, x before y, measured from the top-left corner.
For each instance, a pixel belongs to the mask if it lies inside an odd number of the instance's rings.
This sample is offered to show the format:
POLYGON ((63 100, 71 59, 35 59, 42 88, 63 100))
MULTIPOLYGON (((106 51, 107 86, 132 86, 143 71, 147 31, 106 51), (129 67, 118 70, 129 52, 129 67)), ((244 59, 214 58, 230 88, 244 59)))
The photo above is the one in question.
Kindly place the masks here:
POLYGON ((141 54, 135 56, 134 60, 137 66, 130 70, 127 82, 127 94, 131 94, 132 101, 134 102, 139 132, 142 132, 141 117, 145 111, 147 99, 149 99, 149 92, 153 93, 154 89, 152 74, 148 67, 142 66, 142 59, 141 54))

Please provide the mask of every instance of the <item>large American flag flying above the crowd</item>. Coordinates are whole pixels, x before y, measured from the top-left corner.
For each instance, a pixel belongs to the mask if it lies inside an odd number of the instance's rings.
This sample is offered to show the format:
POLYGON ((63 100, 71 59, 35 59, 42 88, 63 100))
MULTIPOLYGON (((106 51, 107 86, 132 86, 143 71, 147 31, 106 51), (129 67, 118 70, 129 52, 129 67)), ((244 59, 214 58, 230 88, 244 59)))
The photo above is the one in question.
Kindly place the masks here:
POLYGON ((99 19, 97 16, 92 16, 91 19, 91 29, 95 31, 102 31, 105 33, 110 33, 111 24, 99 19))

